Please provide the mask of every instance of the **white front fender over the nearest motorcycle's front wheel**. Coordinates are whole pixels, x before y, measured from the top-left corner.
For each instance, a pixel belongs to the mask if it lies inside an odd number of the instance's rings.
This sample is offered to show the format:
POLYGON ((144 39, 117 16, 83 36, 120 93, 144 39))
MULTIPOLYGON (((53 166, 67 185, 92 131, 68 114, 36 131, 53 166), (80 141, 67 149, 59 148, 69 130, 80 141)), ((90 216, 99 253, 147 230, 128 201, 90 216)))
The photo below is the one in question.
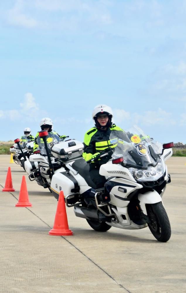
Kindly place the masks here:
POLYGON ((139 193, 138 195, 139 205, 145 215, 147 215, 146 204, 153 204, 161 202, 161 196, 156 190, 148 191, 144 194, 139 193))

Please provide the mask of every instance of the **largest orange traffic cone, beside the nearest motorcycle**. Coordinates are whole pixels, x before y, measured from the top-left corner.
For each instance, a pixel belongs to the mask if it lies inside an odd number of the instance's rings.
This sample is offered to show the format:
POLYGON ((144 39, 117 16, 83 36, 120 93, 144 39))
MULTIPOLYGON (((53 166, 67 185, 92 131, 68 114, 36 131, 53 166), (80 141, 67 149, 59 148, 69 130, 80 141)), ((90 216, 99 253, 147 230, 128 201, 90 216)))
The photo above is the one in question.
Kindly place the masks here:
POLYGON ((49 231, 49 234, 56 236, 73 235, 73 232, 69 229, 68 225, 63 191, 60 191, 59 193, 54 228, 49 231))

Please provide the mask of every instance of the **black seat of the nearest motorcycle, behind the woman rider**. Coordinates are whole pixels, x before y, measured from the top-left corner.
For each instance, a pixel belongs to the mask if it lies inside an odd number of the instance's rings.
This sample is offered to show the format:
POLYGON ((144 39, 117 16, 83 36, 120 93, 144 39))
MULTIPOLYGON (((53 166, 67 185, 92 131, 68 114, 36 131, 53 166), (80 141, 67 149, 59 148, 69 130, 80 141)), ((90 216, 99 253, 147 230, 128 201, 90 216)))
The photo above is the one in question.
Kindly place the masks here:
POLYGON ((96 185, 95 183, 91 180, 90 174, 89 174, 89 164, 87 164, 87 162, 81 158, 79 160, 76 160, 73 164, 72 164, 72 168, 76 171, 78 171, 78 173, 85 179, 86 183, 88 184, 88 186, 96 189, 96 185))

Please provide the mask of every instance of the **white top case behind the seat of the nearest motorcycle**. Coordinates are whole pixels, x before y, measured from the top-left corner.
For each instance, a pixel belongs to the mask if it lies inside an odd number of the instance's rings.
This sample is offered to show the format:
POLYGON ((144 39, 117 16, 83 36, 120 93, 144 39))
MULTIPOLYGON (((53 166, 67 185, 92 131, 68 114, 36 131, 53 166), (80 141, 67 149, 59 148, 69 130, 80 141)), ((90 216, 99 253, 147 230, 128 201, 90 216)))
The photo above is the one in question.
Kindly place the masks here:
POLYGON ((51 149, 51 154, 61 161, 75 161, 83 154, 84 145, 76 139, 55 144, 51 149))

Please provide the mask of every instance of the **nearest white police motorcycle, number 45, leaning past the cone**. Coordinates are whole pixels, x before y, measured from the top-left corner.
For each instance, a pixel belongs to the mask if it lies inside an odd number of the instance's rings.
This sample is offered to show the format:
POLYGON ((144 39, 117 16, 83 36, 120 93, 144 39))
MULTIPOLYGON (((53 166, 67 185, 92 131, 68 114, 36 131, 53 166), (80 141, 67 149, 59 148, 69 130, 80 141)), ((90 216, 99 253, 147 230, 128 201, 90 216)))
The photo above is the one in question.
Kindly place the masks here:
MULTIPOLYGON (((74 141, 56 144, 51 154, 61 168, 53 172, 50 189, 58 199, 63 190, 66 205, 74 207, 77 217, 85 218, 96 231, 107 231, 111 226, 122 229, 142 229, 149 226, 153 236, 162 242, 170 239, 170 222, 162 196, 170 175, 165 161, 172 155, 173 143, 154 141, 134 126, 125 138, 112 131, 110 142, 117 145, 112 159, 101 165, 100 175, 107 182, 96 190, 89 176, 89 165, 81 156, 81 143, 74 141), (108 194, 107 202, 103 198, 108 194), (100 221, 98 212, 106 217, 100 221)), ((107 149, 100 158, 113 149, 107 149)), ((98 157, 90 161, 96 161, 98 157)))

